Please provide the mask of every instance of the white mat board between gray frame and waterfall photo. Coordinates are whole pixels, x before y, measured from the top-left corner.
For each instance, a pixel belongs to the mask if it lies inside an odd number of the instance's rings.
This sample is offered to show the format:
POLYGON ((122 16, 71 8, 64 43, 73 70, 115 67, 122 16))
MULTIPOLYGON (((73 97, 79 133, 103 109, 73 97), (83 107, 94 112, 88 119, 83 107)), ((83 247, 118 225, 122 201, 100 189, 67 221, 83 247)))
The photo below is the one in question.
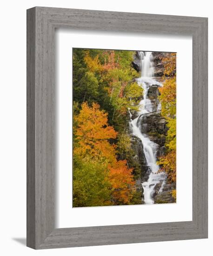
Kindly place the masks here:
POLYGON ((192 37, 59 29, 57 52, 57 228, 192 220, 192 37), (177 52, 177 203, 72 208, 72 47, 177 52), (187 85, 187 86, 186 86, 187 85), (186 105, 183 102, 187 102, 186 105), (187 114, 186 114, 187 113, 187 114), (185 118, 187 115, 187 126, 185 118), (70 217, 72 216, 72 218, 70 217), (85 218, 85 216, 89 216, 85 218))

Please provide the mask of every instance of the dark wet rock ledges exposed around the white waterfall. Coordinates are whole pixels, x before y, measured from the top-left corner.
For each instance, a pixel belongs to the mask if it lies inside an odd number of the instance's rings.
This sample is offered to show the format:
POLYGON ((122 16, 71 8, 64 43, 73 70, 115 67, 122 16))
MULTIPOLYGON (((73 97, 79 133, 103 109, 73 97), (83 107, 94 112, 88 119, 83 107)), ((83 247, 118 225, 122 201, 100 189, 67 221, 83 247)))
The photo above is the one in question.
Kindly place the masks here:
MULTIPOLYGON (((154 76, 156 81, 161 81, 164 72, 164 65, 162 63, 162 58, 166 56, 166 53, 153 52, 153 67, 154 76)), ((133 67, 135 70, 140 72, 141 70, 140 54, 136 52, 133 60, 133 67)), ((153 84, 149 87, 147 92, 147 97, 152 103, 152 112, 142 115, 138 122, 140 122, 139 127, 142 134, 145 134, 149 139, 158 145, 156 156, 157 158, 165 154, 165 142, 166 134, 168 128, 166 127, 166 120, 161 116, 160 102, 159 102, 159 85, 153 84)), ((135 119, 139 114, 136 111, 132 111, 132 120, 135 119)), ((130 132, 131 135, 131 132, 130 132)), ((131 135, 131 145, 134 151, 134 160, 139 163, 140 166, 140 177, 136 181, 137 191, 141 193, 141 200, 143 203, 143 188, 141 183, 148 180, 150 169, 147 166, 146 158, 143 152, 143 145, 141 140, 131 135)), ((162 181, 163 182, 163 181, 162 181)), ((169 184, 166 181, 163 190, 161 191, 162 182, 159 182, 154 189, 153 199, 155 203, 168 203, 174 202, 171 195, 173 189, 175 189, 175 184, 169 184)))

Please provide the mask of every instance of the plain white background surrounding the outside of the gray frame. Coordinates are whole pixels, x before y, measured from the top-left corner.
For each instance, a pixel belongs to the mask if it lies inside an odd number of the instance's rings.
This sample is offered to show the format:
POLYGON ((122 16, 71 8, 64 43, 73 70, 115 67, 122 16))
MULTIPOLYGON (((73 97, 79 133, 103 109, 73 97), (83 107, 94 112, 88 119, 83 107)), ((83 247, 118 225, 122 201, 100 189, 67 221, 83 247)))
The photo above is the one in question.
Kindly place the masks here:
MULTIPOLYGON (((212 1, 195 0, 7 0, 1 4, 0 40, 0 241, 1 255, 211 255, 213 244, 213 149, 209 147, 209 239, 34 251, 26 239, 26 9, 67 7, 209 18, 209 95, 213 95, 212 1)), ((187 124, 187 117, 186 117, 187 124)), ((209 98, 209 145, 213 144, 213 101, 209 98)))

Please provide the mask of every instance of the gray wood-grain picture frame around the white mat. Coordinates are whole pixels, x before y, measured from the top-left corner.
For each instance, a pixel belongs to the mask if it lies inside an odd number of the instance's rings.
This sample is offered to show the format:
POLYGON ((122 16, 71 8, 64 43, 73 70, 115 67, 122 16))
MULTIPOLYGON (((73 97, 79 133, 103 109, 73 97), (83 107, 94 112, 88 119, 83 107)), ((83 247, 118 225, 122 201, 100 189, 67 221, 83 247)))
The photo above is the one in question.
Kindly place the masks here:
POLYGON ((27 10, 28 247, 207 238, 207 39, 207 18, 49 7, 27 10), (192 35, 193 221, 55 228, 55 28, 192 35))

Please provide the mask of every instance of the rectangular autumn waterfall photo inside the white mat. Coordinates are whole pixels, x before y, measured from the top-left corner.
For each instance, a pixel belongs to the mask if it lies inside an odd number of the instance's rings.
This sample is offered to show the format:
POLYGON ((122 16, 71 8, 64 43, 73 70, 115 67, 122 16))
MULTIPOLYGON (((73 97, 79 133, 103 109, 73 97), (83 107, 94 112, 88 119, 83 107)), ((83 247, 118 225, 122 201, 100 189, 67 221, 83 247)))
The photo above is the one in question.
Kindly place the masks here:
POLYGON ((176 53, 73 48, 72 207, 176 203, 176 53))

